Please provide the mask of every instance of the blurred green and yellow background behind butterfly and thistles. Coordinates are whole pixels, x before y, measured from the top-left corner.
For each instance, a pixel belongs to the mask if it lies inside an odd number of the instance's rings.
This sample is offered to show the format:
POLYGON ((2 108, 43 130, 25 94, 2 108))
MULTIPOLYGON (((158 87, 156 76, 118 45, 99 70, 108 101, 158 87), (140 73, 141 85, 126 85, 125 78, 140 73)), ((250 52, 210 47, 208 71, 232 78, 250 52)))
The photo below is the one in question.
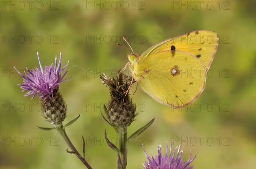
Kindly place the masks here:
MULTIPOLYGON (((143 168, 148 154, 166 141, 183 147, 183 160, 197 155, 195 168, 256 168, 256 1, 0 1, 0 167, 84 168, 40 112, 38 99, 23 97, 17 83, 22 71, 70 61, 60 85, 67 102, 64 123, 81 117, 67 134, 93 168, 116 168, 116 153, 107 146, 104 130, 114 144, 115 131, 100 117, 109 91, 99 79, 114 76, 128 62, 122 37, 142 54, 151 45, 175 35, 207 29, 220 42, 202 95, 191 105, 172 109, 159 104, 140 87, 131 95, 139 115, 128 135, 155 117, 140 137, 128 144, 127 168, 143 168)), ((128 71, 127 71, 128 72, 128 71)), ((134 92, 136 87, 131 89, 134 92)))

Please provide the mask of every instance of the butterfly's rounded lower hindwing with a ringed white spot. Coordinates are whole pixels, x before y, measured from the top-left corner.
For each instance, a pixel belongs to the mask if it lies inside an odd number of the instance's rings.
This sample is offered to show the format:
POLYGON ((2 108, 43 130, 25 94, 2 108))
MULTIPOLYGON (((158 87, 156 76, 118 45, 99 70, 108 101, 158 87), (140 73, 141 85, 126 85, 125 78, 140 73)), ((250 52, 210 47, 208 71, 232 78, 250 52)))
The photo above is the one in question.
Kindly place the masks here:
POLYGON ((196 56, 186 52, 151 53, 135 69, 136 80, 145 72, 140 87, 153 99, 171 107, 191 103, 204 90, 205 66, 196 56))

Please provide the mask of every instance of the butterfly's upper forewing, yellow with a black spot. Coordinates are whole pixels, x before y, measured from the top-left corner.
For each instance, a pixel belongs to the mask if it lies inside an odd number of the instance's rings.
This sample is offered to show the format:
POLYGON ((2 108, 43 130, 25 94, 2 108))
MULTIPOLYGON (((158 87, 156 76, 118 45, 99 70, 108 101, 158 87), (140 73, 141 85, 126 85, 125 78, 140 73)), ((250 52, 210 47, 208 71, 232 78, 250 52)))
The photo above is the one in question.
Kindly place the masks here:
POLYGON ((206 70, 212 63, 218 47, 218 34, 214 31, 199 30, 160 42, 140 56, 140 62, 147 56, 161 51, 184 51, 200 59, 206 70))

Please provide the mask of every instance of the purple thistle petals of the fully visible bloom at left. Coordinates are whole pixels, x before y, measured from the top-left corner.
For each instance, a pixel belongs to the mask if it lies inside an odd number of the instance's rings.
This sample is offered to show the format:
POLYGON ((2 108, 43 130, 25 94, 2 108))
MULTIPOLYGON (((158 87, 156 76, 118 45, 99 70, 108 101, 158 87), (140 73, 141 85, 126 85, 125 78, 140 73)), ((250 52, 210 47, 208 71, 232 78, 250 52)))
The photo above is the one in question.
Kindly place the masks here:
POLYGON ((29 92, 26 93, 24 96, 30 96, 33 95, 32 99, 39 94, 39 98, 47 99, 49 97, 53 97, 53 91, 58 90, 58 86, 61 82, 64 82, 68 79, 63 79, 64 76, 67 74, 67 70, 61 76, 61 72, 67 68, 67 65, 64 66, 64 68, 61 69, 61 53, 60 53, 60 60, 58 62, 57 67, 57 56, 55 56, 55 65, 52 67, 45 66, 44 68, 41 65, 39 54, 37 52, 38 61, 40 65, 40 69, 35 67, 32 70, 29 70, 27 73, 24 71, 24 75, 20 73, 15 67, 15 70, 20 74, 20 76, 23 77, 23 84, 20 85, 20 88, 22 88, 22 92, 28 90, 29 92))

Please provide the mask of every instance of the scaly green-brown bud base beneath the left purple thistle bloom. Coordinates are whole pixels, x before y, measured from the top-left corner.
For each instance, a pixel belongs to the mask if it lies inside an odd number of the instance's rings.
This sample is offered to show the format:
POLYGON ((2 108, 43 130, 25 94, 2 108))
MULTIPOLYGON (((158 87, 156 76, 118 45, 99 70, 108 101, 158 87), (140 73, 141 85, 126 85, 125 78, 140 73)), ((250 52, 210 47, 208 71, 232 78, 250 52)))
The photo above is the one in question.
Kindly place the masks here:
POLYGON ((66 118, 67 105, 58 91, 53 92, 53 97, 41 99, 44 118, 51 124, 60 126, 66 118))

